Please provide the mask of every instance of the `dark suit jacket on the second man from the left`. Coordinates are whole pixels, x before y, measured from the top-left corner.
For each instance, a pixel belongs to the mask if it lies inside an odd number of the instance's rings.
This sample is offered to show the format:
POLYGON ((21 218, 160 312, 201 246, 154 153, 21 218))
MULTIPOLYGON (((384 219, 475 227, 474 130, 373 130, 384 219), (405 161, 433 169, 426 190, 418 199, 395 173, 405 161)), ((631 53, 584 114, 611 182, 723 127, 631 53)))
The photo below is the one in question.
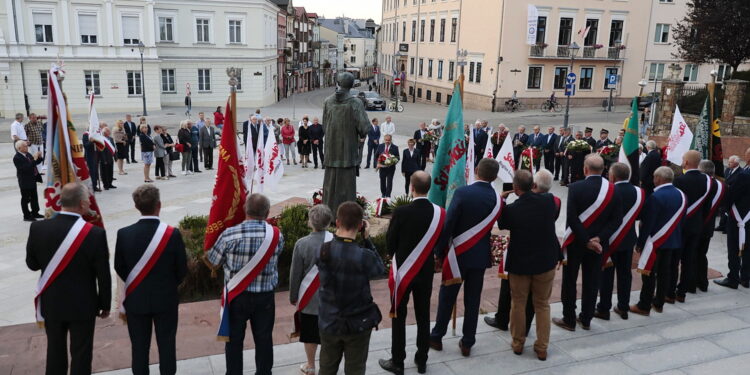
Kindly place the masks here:
MULTIPOLYGON (((158 220, 146 218, 117 232, 115 272, 120 279, 127 280, 158 226, 158 220)), ((155 314, 174 308, 178 303, 177 286, 186 273, 185 244, 180 231, 175 229, 159 260, 141 284, 125 299, 125 311, 155 314)))

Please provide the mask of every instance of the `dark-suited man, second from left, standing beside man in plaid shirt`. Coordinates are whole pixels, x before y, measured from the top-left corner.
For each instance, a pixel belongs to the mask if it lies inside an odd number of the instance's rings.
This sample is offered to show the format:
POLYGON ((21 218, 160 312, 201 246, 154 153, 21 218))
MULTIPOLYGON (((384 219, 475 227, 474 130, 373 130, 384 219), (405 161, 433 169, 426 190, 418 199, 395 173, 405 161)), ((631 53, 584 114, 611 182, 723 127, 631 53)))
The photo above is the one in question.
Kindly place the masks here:
MULTIPOLYGON (((144 256, 149 243, 158 235, 161 225, 158 188, 154 185, 139 186, 133 192, 133 201, 141 213, 141 219, 120 229, 115 245, 115 271, 120 279, 126 281, 144 256)), ((173 375, 177 371, 177 286, 187 273, 187 258, 178 229, 168 228, 162 236, 168 236, 168 239, 161 255, 155 255, 157 258, 153 268, 147 270, 143 281, 124 301, 131 342, 131 367, 135 375, 149 373, 152 326, 156 330, 156 343, 159 346, 159 373, 173 375)), ((133 275, 133 278, 137 275, 133 275)))

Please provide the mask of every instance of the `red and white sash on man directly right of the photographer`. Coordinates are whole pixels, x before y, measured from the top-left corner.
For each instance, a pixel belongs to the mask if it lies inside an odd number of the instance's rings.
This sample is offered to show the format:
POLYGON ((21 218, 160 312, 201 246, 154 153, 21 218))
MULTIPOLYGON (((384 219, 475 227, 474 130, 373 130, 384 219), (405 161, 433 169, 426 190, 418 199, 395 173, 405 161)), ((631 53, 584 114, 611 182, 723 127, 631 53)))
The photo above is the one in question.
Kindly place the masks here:
POLYGON ((440 238, 440 233, 443 231, 445 210, 435 204, 432 205, 432 209, 432 219, 430 220, 427 232, 425 232, 409 256, 406 257, 401 267, 398 267, 396 264, 395 256, 391 260, 391 270, 388 274, 388 287, 391 291, 391 318, 396 317, 396 311, 398 311, 398 307, 401 305, 401 300, 404 298, 404 294, 406 294, 406 289, 422 269, 424 262, 432 254, 432 250, 438 238, 440 238))

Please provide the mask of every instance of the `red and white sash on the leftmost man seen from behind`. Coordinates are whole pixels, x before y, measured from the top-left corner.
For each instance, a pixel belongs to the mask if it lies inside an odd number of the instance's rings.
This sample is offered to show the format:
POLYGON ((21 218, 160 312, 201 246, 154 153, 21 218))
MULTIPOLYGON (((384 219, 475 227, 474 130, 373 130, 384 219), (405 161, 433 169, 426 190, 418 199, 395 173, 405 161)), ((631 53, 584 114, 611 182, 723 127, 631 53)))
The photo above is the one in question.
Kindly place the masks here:
POLYGON ((44 268, 42 276, 36 284, 36 296, 34 296, 34 309, 36 310, 36 322, 40 327, 44 327, 44 317, 42 317, 42 296, 45 290, 57 279, 65 270, 70 261, 81 248, 81 244, 94 226, 87 223, 82 218, 78 218, 73 226, 65 235, 60 246, 55 250, 55 254, 50 259, 47 267, 44 268))

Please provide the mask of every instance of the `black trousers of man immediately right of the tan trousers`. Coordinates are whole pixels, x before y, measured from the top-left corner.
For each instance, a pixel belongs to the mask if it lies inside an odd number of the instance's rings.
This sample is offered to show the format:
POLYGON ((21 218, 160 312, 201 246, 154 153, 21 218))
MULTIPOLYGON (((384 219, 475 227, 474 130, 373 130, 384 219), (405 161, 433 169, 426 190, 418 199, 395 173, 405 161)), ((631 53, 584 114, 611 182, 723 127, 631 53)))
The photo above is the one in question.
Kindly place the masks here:
POLYGON ((596 295, 599 292, 599 274, 602 256, 586 248, 568 247, 568 264, 563 267, 563 282, 560 297, 563 303, 565 323, 576 325, 576 281, 581 270, 581 321, 591 322, 594 317, 596 295))

